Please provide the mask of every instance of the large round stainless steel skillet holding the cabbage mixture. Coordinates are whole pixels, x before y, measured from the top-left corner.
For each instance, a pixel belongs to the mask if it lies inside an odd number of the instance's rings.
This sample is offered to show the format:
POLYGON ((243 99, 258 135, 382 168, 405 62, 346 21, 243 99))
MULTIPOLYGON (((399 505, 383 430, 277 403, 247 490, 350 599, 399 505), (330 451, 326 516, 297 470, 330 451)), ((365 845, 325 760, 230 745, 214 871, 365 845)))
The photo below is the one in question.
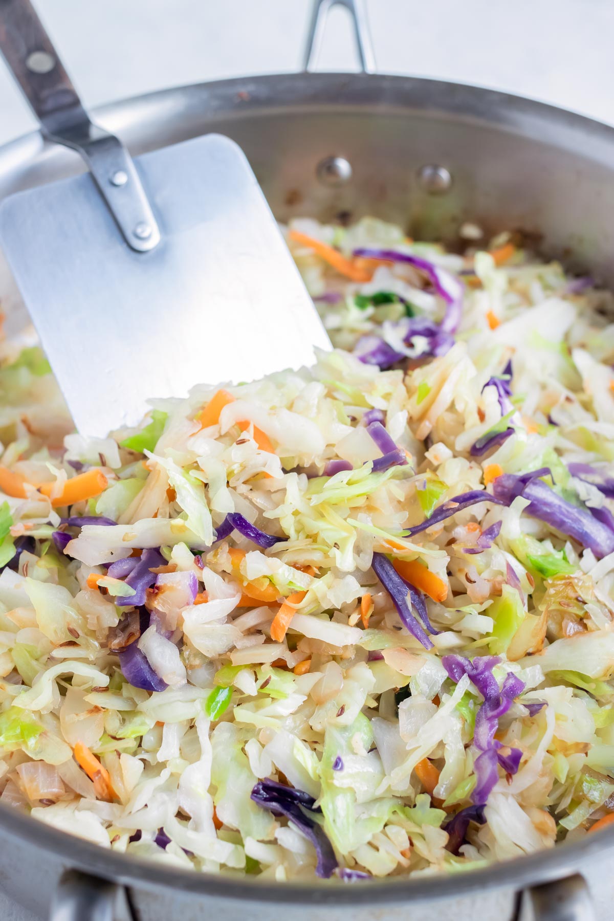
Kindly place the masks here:
MULTIPOLYGON (((355 14, 352 0, 344 6, 355 14)), ((314 19, 316 40, 321 21, 314 19)), ((364 41, 364 20, 355 21, 364 41)), ((307 60, 311 67, 311 47, 307 60)), ((370 69, 368 47, 362 60, 370 69)), ((208 131, 228 134, 281 219, 376 214, 452 243, 465 220, 487 232, 511 227, 614 284, 614 129, 566 111, 433 80, 305 72, 169 89, 95 115, 133 154, 208 131)), ((80 169, 76 155, 29 134, 0 148, 0 196, 80 169)), ((6 892, 45 916, 64 870, 77 871, 60 885, 53 921, 110 921, 115 900, 122 921, 605 921, 613 914, 613 855, 614 833, 604 832, 445 879, 272 885, 145 864, 0 805, 6 892)))

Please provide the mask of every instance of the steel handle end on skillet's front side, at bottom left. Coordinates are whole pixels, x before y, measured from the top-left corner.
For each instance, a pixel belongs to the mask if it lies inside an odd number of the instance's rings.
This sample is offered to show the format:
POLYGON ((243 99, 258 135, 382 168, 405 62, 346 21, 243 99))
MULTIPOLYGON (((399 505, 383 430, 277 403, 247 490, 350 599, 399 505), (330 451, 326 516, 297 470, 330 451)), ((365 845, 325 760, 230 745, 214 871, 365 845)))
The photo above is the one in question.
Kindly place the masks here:
POLYGON ((66 870, 53 896, 49 921, 134 921, 123 886, 66 870))

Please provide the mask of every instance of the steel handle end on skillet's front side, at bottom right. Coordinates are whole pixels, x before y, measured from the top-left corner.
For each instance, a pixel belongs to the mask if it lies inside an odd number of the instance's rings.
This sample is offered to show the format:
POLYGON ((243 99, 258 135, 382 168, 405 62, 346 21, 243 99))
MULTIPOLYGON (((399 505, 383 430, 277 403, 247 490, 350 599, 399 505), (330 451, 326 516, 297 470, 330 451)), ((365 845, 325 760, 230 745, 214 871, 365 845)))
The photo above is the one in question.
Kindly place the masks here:
POLYGON ((522 892, 517 921, 596 921, 584 877, 544 882, 522 892))

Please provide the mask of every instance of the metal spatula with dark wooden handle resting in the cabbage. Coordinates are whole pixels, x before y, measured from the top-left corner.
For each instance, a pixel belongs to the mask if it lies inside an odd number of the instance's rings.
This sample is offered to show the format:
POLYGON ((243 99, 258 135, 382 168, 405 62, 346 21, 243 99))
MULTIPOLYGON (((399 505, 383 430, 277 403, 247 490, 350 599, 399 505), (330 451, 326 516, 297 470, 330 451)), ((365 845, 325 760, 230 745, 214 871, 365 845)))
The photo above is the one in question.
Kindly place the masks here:
POLYGON ((209 134, 132 160, 89 121, 29 0, 0 0, 0 50, 45 137, 89 169, 0 206, 0 246, 81 432, 330 348, 234 142, 209 134))

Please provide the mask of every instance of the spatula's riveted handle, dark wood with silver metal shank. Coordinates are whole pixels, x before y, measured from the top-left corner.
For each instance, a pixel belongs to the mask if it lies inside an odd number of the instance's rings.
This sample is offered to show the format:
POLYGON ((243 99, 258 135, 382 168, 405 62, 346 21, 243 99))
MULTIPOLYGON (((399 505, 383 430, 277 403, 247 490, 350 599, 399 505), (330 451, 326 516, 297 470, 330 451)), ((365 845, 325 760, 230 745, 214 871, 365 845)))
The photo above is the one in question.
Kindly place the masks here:
MULTIPOLYGON (((132 159, 117 137, 90 122, 29 0, 0 0, 0 51, 43 134, 84 158, 128 245, 138 252, 152 250, 159 231, 132 159), (120 171, 126 176, 121 190, 108 182, 120 171), (134 232, 140 224, 151 228, 145 237, 134 232)), ((62 217, 59 212, 58 221, 62 217)))

